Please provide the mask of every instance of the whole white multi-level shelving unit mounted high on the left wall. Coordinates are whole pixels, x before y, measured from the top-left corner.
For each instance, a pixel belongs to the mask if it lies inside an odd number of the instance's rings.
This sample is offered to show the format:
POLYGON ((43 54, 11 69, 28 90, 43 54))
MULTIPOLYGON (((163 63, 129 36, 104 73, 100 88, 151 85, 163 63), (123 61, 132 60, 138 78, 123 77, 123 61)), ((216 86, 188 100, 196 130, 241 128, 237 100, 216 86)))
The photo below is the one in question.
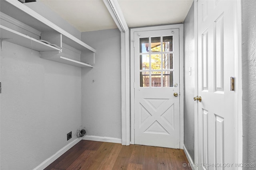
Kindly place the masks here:
MULTIPOLYGON (((12 23, 13 25, 16 25, 16 23, 19 22, 19 24, 24 25, 22 28, 25 30, 28 27, 32 30, 34 29, 34 35, 41 37, 41 39, 45 41, 58 45, 60 49, 38 41, 37 39, 29 37, 28 35, 24 35, 18 32, 19 30, 15 31, 11 28, 8 28, 8 25, 7 27, 6 25, 1 26, 0 35, 1 39, 4 41, 10 41, 12 43, 40 51, 41 58, 43 59, 70 64, 73 66, 88 66, 93 68, 92 65, 95 61, 94 53, 96 52, 94 48, 82 42, 80 39, 74 37, 64 29, 58 27, 34 10, 30 9, 28 6, 20 3, 18 0, 0 0, 0 11, 3 16, 1 17, 1 20, 4 21, 4 23, 7 21, 6 18, 12 18, 11 21, 15 20, 15 23, 12 23), (69 48, 72 49, 71 51, 80 51, 80 55, 77 56, 77 53, 74 55, 75 57, 73 54, 66 55, 66 52, 63 53, 62 44, 68 45, 69 48), (56 55, 56 53, 58 53, 58 55, 56 55), (86 63, 82 63, 80 61, 86 61, 86 63), (87 64, 88 61, 90 64, 87 64)), ((20 27, 20 25, 16 26, 20 27)), ((27 31, 31 33, 31 30, 27 31)))

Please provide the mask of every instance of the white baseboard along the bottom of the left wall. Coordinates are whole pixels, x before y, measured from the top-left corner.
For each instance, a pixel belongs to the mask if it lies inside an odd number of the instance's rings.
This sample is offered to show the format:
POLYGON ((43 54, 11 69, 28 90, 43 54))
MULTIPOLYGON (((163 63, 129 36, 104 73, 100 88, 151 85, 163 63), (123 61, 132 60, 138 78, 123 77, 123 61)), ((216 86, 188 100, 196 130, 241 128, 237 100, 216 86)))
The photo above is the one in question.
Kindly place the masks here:
POLYGON ((54 155, 52 155, 50 158, 46 159, 44 162, 42 162, 40 165, 36 166, 33 170, 43 170, 47 166, 49 166, 54 160, 59 158, 62 154, 64 154, 66 151, 68 151, 70 148, 72 148, 74 145, 76 145, 78 142, 80 142, 82 139, 79 137, 75 139, 74 141, 70 142, 68 145, 63 147, 62 149, 58 150, 54 155))

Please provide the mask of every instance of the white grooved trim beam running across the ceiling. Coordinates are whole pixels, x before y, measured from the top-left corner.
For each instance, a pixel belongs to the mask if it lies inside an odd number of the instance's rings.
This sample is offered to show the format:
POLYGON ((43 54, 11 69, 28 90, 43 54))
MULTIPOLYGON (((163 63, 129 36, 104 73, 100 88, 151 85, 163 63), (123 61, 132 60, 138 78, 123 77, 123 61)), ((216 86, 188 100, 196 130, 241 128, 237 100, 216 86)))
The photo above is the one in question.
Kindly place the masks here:
POLYGON ((116 0, 103 0, 103 2, 120 32, 125 33, 126 31, 129 31, 128 25, 124 19, 124 15, 118 2, 116 0))

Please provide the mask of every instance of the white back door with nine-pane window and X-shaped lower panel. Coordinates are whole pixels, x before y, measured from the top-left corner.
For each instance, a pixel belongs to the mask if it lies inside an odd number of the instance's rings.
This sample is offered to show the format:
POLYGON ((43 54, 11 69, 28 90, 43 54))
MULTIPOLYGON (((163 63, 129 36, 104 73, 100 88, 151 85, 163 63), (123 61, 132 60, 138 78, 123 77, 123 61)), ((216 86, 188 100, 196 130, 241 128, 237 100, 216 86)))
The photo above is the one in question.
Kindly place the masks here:
POLYGON ((134 143, 180 148, 179 29, 134 32, 134 143))

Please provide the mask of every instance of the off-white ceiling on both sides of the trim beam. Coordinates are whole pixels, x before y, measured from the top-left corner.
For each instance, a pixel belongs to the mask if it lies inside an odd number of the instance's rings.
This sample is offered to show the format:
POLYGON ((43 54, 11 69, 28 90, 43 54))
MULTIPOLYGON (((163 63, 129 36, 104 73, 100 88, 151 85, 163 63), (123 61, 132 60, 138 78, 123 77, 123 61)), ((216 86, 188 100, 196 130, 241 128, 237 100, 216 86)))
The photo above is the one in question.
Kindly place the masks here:
MULTIPOLYGON (((38 0, 80 32, 117 28, 102 0, 38 0)), ((193 0, 118 0, 128 27, 182 23, 193 0)))

